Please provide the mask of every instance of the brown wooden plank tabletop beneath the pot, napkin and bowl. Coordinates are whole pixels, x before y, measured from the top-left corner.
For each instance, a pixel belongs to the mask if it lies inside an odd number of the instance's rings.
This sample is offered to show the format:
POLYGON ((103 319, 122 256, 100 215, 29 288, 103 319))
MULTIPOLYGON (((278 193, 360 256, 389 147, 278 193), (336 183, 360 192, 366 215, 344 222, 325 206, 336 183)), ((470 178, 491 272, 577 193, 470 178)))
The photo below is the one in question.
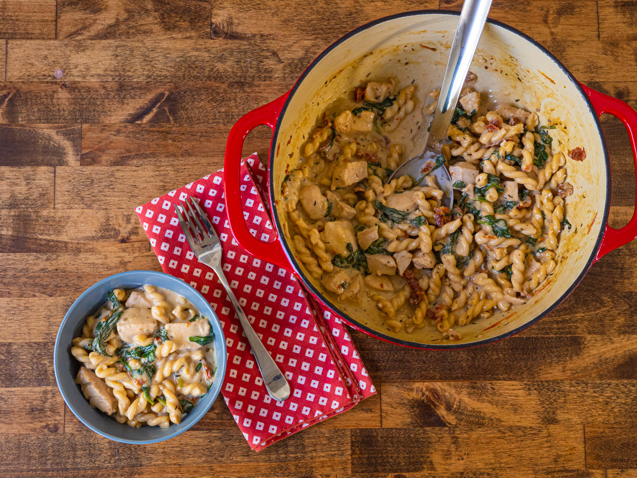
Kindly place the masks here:
MULTIPOLYGON (((220 168, 234 122, 350 29, 460 6, 0 0, 0 477, 637 477, 637 243, 496 344, 414 351, 353 332, 380 393, 258 454, 222 400, 180 437, 133 446, 85 428, 55 386, 73 300, 160 270, 134 206, 220 168)), ((637 1, 494 0, 490 16, 637 107, 637 1)), ((603 124, 621 226, 633 162, 620 122, 603 124)), ((268 133, 245 152, 266 154, 268 133)))

